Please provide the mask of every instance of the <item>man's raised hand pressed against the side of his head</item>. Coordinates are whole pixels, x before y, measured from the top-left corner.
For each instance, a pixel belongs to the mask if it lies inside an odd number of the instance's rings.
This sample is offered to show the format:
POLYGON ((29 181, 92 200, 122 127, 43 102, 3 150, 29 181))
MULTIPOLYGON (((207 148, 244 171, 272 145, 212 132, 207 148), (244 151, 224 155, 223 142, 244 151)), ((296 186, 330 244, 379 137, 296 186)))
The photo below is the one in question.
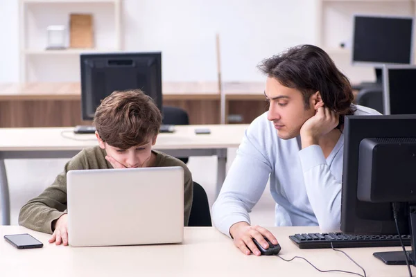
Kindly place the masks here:
POLYGON ((300 128, 302 149, 318 144, 324 134, 331 132, 339 123, 340 117, 327 107, 319 107, 315 116, 312 116, 300 128))

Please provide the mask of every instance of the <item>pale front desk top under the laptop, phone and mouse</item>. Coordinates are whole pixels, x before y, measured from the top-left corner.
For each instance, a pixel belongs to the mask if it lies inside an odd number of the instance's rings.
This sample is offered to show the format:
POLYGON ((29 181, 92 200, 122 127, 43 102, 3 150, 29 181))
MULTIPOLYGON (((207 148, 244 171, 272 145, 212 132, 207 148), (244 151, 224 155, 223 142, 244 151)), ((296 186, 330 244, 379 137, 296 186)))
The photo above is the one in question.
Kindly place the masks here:
MULTIPOLYGON (((281 245, 281 256, 302 256, 319 269, 343 269, 363 274, 343 253, 332 249, 298 249, 293 233, 316 232, 317 227, 272 227, 281 245)), ((62 247, 49 244, 50 235, 21 226, 0 226, 1 276, 354 276, 320 273, 304 260, 284 262, 275 256, 245 256, 232 240, 210 227, 186 227, 182 244, 129 247, 62 247), (31 233, 44 243, 42 249, 18 250, 3 235, 31 233)), ((405 266, 384 265, 374 251, 399 247, 343 249, 369 277, 408 276, 405 266)), ((416 272, 412 267, 413 273, 416 272)))

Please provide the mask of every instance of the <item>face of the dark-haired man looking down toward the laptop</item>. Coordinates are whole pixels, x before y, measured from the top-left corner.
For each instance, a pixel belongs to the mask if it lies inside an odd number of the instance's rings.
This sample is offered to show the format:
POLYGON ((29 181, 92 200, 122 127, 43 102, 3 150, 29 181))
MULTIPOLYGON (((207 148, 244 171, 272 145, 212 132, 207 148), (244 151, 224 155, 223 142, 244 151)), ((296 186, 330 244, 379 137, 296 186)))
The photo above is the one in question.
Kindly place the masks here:
POLYGON ((275 125, 280 139, 293 139, 298 136, 305 121, 315 115, 312 103, 309 109, 305 109, 300 91, 284 87, 275 78, 267 78, 264 93, 270 100, 267 118, 275 125))

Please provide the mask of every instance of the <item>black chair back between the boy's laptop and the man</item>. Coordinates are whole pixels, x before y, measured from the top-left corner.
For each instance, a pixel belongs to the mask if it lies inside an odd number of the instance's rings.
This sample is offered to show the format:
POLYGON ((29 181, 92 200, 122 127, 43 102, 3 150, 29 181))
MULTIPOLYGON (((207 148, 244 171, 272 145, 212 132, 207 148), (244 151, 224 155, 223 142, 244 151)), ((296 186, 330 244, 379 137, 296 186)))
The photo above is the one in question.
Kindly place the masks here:
POLYGON ((193 200, 188 226, 212 226, 207 193, 205 193, 204 188, 195 181, 193 182, 193 200))

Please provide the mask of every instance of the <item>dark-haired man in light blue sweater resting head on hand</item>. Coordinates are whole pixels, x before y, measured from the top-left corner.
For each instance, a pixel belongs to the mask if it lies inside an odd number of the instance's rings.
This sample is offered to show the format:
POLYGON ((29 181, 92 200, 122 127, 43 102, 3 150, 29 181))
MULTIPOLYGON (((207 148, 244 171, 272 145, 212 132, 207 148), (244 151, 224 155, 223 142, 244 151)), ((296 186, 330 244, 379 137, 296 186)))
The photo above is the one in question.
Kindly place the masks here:
POLYGON ((277 240, 248 213, 270 176, 276 226, 338 230, 346 115, 379 114, 352 105, 349 80, 321 48, 295 46, 264 60, 268 112, 245 132, 212 213, 216 227, 236 247, 259 256, 252 239, 268 248, 277 240))

